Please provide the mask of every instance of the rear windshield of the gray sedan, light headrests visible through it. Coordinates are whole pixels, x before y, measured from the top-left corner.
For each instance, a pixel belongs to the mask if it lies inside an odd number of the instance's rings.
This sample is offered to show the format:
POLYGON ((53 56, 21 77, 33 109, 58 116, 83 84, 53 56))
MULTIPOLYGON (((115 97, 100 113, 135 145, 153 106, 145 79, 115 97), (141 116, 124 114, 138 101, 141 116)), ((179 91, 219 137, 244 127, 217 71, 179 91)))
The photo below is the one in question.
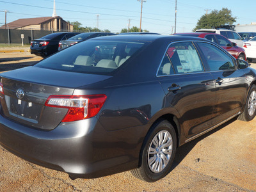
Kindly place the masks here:
POLYGON ((143 45, 144 42, 88 40, 40 61, 35 67, 111 75, 143 45))

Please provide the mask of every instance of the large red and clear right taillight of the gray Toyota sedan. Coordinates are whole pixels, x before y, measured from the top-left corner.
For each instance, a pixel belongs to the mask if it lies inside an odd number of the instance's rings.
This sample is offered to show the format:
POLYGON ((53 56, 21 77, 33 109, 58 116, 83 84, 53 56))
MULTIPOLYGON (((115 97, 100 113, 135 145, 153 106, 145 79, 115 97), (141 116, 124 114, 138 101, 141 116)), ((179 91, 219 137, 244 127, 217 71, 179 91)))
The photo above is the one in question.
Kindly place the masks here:
POLYGON ((106 99, 106 95, 51 95, 45 106, 67 108, 61 122, 73 122, 97 115, 106 99))

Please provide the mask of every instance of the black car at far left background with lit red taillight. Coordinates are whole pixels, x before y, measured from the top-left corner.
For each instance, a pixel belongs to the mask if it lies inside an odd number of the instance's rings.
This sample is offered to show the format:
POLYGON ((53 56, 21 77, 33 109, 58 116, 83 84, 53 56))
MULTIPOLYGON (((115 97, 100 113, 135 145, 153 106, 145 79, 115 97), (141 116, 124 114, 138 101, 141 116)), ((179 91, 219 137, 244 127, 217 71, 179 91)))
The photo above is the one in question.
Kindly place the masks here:
POLYGON ((30 52, 37 56, 45 58, 58 51, 60 40, 67 40, 68 38, 79 33, 64 32, 64 33, 51 33, 41 38, 31 41, 30 52))

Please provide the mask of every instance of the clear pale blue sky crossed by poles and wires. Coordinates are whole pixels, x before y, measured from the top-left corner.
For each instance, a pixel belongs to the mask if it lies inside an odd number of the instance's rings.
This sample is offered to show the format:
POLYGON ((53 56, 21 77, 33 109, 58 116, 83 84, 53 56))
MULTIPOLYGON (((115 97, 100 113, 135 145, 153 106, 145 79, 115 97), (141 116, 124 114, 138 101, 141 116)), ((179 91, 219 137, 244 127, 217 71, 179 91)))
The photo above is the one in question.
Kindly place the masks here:
MULTIPOLYGON (((174 33, 175 0, 143 1, 141 29, 162 35, 174 33)), ((121 29, 128 28, 130 20, 130 28, 140 28, 141 0, 55 0, 55 3, 58 16, 66 21, 81 22, 83 27, 99 26, 99 29, 120 33, 121 29)), ((237 18, 234 24, 251 24, 256 22, 255 7, 255 0, 177 0, 176 32, 191 32, 202 15, 222 8, 232 11, 232 17, 237 18)), ((0 0, 0 26, 4 24, 4 10, 8 11, 7 23, 17 19, 51 17, 53 0, 0 0)))

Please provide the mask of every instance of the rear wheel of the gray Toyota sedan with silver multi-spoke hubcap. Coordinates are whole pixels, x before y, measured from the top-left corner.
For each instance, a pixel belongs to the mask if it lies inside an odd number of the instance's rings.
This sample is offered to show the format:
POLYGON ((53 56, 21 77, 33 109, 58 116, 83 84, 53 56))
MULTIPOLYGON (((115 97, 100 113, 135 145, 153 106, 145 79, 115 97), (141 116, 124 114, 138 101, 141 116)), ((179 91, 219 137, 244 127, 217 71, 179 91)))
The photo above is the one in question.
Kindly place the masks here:
POLYGON ((162 120, 156 125, 153 125, 141 149, 141 166, 140 168, 131 170, 132 175, 147 182, 155 182, 166 176, 171 170, 175 156, 177 148, 176 137, 175 129, 168 120, 162 120), (159 136, 163 138, 161 142, 163 145, 160 145, 160 147, 156 143, 153 143, 154 141, 159 141, 159 136), (151 153, 149 152, 150 146, 152 149, 151 153), (148 160, 152 159, 154 160, 151 161, 152 164, 150 165, 148 160), (161 162, 162 164, 157 162, 161 162))

